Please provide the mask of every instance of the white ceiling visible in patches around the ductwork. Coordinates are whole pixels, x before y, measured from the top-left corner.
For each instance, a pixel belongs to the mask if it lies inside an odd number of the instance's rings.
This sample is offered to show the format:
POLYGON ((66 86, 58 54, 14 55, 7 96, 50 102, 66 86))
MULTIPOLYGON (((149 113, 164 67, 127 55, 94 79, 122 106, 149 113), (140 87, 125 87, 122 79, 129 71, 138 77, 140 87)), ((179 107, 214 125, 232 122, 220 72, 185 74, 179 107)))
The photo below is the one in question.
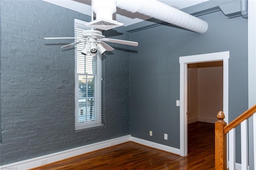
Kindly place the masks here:
MULTIPOLYGON (((50 2, 52 4, 62 6, 64 8, 68 8, 68 9, 80 12, 82 14, 91 16, 91 0, 43 0, 43 1, 50 2)), ((182 8, 186 8, 196 4, 200 4, 208 0, 158 0, 158 1, 163 2, 164 4, 167 4, 174 8, 182 9, 182 8)), ((113 15, 113 20, 124 23, 124 26, 129 26, 137 22, 147 20, 149 18, 150 17, 144 16, 137 12, 131 13, 131 12, 127 12, 126 10, 121 10, 119 8, 116 8, 116 13, 113 15)))

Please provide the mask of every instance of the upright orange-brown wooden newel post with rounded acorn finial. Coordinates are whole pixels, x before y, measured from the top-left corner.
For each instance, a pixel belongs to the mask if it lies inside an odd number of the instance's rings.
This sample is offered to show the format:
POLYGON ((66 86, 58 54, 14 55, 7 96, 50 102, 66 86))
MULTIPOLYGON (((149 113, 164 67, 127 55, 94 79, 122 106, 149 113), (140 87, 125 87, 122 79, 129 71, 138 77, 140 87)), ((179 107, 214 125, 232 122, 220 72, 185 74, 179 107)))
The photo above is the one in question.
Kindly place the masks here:
POLYGON ((227 123, 223 120, 225 115, 222 111, 217 114, 218 121, 215 123, 215 170, 227 169, 227 135, 224 127, 227 123))

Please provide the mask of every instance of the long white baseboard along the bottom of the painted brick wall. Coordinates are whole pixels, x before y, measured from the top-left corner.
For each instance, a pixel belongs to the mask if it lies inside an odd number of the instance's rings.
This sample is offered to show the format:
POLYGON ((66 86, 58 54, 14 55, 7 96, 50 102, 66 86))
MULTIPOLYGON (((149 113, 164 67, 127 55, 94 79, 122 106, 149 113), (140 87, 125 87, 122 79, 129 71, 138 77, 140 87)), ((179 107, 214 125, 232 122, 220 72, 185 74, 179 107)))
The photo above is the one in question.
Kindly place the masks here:
POLYGON ((35 168, 37 166, 41 166, 46 163, 49 164, 49 163, 56 162, 56 161, 59 161, 62 159, 70 158, 72 156, 77 156, 80 154, 85 154, 87 152, 92 152, 94 150, 99 150, 99 149, 107 148, 109 146, 113 146, 116 144, 128 142, 128 141, 130 141, 130 137, 131 137, 131 135, 126 135, 126 136, 122 136, 119 138, 114 138, 114 139, 105 140, 102 142, 88 144, 88 145, 81 146, 78 148, 72 148, 69 150, 64 150, 64 151, 56 152, 53 154, 48 154, 48 155, 44 155, 44 156, 40 156, 40 157, 28 159, 28 160, 23 160, 20 162, 15 162, 12 164, 6 164, 3 166, 0 166, 0 169, 11 169, 12 168, 15 170, 26 170, 26 169, 30 169, 30 168, 35 168))

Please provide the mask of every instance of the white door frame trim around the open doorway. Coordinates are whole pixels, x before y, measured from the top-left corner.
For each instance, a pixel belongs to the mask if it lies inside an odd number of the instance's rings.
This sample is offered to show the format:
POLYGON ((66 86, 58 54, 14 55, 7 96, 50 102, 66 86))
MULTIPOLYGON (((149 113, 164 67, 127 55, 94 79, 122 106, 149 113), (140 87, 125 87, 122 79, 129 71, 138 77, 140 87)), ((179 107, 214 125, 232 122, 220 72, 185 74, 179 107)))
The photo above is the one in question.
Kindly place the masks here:
MULTIPOLYGON (((188 155, 187 76, 188 64, 223 61, 223 112, 228 123, 228 59, 229 51, 180 57, 180 156, 188 155)), ((217 116, 217 113, 216 113, 217 116)))

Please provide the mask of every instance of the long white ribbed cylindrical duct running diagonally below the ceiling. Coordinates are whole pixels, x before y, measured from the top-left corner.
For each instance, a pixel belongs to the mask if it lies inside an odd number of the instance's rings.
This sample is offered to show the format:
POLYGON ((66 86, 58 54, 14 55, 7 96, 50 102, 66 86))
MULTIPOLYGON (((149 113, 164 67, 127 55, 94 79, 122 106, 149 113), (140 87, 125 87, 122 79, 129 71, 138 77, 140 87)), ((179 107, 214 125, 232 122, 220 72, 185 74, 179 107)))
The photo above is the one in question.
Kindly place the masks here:
POLYGON ((157 0, 116 0, 116 6, 129 12, 138 12, 197 33, 208 29, 206 21, 168 6, 157 0))

